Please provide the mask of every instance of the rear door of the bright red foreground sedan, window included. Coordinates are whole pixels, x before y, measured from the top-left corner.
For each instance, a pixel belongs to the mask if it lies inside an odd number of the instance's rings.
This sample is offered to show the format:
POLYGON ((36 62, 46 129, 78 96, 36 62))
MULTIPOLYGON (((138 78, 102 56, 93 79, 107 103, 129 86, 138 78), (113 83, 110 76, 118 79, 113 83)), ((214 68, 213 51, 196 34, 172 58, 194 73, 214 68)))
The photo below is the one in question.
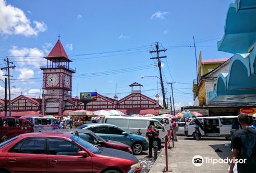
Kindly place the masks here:
POLYGON ((45 138, 26 138, 18 142, 6 156, 12 172, 46 172, 45 138))

